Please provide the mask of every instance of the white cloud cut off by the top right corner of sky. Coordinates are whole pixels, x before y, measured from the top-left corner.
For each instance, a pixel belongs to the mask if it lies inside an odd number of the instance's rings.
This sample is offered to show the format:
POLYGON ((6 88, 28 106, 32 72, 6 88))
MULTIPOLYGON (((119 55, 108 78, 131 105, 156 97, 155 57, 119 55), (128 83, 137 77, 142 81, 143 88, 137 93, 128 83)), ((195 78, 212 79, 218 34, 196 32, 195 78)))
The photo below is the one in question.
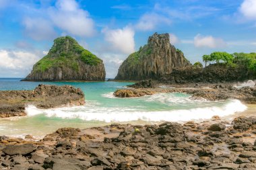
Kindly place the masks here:
POLYGON ((256 19, 256 1, 244 0, 240 11, 247 19, 256 19))

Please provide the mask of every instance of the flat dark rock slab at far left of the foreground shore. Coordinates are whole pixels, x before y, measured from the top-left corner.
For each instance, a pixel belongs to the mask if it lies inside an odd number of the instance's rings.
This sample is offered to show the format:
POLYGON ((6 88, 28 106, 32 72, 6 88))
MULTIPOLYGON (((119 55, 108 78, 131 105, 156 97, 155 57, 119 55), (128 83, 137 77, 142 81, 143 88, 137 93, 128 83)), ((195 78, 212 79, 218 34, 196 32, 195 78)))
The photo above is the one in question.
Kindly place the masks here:
POLYGON ((27 155, 36 150, 33 144, 7 145, 3 152, 7 155, 27 155))

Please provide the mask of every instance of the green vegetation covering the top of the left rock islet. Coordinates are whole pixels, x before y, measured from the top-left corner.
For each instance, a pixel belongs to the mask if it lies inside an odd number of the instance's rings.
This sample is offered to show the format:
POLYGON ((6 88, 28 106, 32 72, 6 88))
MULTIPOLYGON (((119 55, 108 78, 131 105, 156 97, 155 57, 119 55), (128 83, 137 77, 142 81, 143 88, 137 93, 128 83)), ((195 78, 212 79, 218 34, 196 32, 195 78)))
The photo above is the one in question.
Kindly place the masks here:
POLYGON ((100 58, 80 46, 70 36, 57 38, 49 53, 34 65, 34 71, 46 71, 51 67, 70 67, 79 69, 79 61, 88 65, 98 65, 100 58))

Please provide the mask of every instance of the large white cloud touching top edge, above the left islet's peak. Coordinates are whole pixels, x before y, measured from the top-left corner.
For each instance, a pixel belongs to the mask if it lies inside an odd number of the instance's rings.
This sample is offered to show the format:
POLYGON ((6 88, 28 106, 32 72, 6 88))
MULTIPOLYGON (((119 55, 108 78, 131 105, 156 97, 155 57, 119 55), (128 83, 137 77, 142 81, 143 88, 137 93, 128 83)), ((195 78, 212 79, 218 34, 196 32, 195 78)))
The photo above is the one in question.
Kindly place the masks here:
POLYGON ((74 0, 58 0, 49 13, 55 26, 65 32, 75 36, 93 36, 96 32, 88 11, 80 9, 74 0))

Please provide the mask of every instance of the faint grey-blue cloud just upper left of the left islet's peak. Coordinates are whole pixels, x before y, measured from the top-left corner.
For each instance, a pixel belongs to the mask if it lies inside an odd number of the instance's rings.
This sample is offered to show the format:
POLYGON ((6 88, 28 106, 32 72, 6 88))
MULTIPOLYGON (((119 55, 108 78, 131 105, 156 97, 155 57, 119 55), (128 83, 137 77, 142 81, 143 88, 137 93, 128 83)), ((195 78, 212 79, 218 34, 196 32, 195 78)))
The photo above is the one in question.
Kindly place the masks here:
POLYGON ((51 22, 43 18, 26 17, 23 25, 25 34, 34 40, 49 40, 57 35, 51 22))

